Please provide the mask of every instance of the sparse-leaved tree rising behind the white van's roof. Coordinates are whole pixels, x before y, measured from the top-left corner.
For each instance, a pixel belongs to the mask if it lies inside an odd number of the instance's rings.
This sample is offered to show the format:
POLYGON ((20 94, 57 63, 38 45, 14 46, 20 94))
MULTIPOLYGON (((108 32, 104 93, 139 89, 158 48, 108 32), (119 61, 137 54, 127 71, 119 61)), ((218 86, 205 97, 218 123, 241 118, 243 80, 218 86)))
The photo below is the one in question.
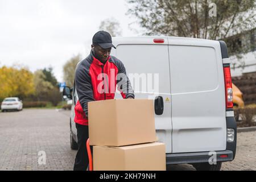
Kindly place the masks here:
POLYGON ((255 26, 255 0, 127 0, 146 35, 225 39, 255 26), (212 4, 214 3, 214 4, 212 4), (210 16, 216 5, 216 16, 210 16), (246 13, 245 13, 246 11, 246 13))

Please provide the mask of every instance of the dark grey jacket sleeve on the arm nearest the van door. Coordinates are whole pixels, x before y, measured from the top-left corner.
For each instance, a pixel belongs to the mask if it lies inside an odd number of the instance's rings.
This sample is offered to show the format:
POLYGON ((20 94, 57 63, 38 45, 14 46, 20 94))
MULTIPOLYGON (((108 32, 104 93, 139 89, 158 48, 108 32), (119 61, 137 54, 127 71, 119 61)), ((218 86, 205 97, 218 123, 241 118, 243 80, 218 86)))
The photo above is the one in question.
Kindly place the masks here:
POLYGON ((134 91, 133 87, 131 86, 131 82, 129 77, 126 75, 125 66, 123 63, 118 60, 118 76, 121 74, 121 79, 117 80, 117 88, 121 91, 123 98, 134 98, 134 91), (122 80, 124 79, 124 80, 122 80))

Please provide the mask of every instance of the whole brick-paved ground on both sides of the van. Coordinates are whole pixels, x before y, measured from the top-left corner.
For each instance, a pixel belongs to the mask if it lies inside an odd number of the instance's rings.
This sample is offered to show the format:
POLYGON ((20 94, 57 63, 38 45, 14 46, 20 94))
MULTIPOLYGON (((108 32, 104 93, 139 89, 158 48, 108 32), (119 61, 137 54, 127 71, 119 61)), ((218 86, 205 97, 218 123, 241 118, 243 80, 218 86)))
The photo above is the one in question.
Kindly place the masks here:
MULTIPOLYGON (((238 133, 237 138, 236 159, 222 164, 222 169, 256 170, 256 131, 238 133)), ((0 113, 0 170, 72 170, 75 156, 69 144, 69 111, 0 113)), ((188 164, 167 169, 195 170, 188 164)))

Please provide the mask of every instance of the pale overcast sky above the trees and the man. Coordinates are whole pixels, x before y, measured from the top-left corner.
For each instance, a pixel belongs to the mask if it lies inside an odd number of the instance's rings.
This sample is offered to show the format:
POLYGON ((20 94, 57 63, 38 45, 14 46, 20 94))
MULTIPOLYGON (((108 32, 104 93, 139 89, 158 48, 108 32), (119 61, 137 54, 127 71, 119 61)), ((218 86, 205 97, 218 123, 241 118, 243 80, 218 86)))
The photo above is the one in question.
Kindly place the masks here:
POLYGON ((125 0, 0 0, 0 67, 22 64, 34 72, 51 66, 63 81, 64 63, 88 55, 102 20, 114 17, 123 36, 139 35, 126 12, 125 0))

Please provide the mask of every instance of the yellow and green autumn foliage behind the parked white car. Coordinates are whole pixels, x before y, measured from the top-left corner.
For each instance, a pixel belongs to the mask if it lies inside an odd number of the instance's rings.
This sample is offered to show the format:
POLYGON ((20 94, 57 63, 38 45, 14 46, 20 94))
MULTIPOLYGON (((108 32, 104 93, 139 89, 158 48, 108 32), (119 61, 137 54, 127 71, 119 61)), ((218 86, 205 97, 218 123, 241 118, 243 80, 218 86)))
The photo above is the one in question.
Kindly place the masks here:
POLYGON ((56 106, 61 101, 61 93, 57 87, 57 80, 53 76, 52 68, 38 70, 34 74, 22 66, 0 68, 0 101, 5 97, 19 97, 28 102, 28 106, 47 106, 45 102, 51 102, 56 106))

